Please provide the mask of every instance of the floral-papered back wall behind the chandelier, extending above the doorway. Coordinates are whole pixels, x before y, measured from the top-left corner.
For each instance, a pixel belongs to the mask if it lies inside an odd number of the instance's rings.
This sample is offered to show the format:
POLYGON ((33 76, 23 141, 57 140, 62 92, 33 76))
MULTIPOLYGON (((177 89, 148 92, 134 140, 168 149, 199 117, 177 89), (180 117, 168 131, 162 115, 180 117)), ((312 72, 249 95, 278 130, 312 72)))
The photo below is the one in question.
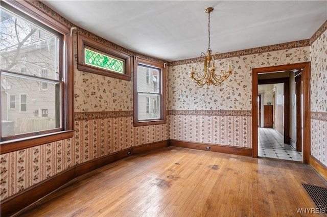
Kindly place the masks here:
MULTIPOLYGON (((269 49, 269 48, 267 48, 269 49)), ((252 147, 252 68, 309 60, 310 47, 260 52, 258 49, 240 51, 239 55, 219 60, 218 71, 230 61, 233 72, 220 86, 199 87, 192 82, 188 71, 192 61, 176 61, 169 67, 170 139, 252 147), (253 53, 253 50, 258 53, 253 53)), ((226 55, 227 56, 227 55, 226 55)), ((194 64, 202 71, 202 63, 194 64)))

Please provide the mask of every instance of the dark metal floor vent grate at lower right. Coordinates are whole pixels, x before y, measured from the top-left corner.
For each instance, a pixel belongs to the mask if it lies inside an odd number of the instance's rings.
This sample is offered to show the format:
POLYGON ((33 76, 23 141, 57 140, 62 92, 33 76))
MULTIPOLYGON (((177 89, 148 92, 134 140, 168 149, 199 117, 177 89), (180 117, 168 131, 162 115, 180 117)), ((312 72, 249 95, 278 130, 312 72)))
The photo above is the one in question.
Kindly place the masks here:
POLYGON ((327 188, 310 184, 302 184, 317 208, 327 210, 327 188))

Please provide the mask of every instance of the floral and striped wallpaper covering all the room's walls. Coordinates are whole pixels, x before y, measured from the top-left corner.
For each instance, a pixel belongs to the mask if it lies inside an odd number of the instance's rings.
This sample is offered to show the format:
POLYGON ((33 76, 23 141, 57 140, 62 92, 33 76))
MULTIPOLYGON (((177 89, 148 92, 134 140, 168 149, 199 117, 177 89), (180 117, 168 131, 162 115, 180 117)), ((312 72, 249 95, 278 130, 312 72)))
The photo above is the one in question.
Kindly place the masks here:
MULTIPOLYGON (((42 3, 31 3, 67 26, 76 26, 42 3)), ((108 43, 91 33, 86 32, 86 35, 108 43)), ((323 94, 327 88, 323 78, 326 77, 326 35, 323 33, 311 46, 311 111, 314 112, 311 119, 311 153, 325 165, 327 96, 323 94)), ((74 137, 2 154, 1 200, 22 193, 26 188, 49 180, 77 164, 131 146, 176 139, 251 147, 251 69, 310 60, 310 47, 290 48, 296 46, 295 42, 291 42, 285 47, 278 46, 284 49, 277 51, 267 51, 270 49, 268 46, 251 49, 248 53, 233 52, 234 56, 230 58, 235 67, 233 73, 218 87, 196 86, 186 75, 186 71, 191 69, 190 63, 172 63, 168 69, 169 115, 165 125, 132 126, 132 82, 75 69, 74 137), (94 95, 91 89, 94 89, 94 95), (85 94, 84 90, 91 94, 85 94), (103 97, 101 101, 100 96, 103 97)), ((220 63, 226 65, 227 60, 222 59, 220 63)), ((203 69, 200 63, 196 66, 198 70, 203 69)))

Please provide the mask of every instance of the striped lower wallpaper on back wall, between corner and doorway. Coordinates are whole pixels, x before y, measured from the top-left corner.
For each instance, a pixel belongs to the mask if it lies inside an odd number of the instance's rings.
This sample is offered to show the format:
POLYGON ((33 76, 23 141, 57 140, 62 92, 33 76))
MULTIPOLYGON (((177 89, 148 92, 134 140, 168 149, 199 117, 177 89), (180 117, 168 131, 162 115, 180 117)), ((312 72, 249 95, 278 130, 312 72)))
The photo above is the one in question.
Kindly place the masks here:
POLYGON ((251 147, 250 116, 170 116, 170 139, 238 147, 251 147))

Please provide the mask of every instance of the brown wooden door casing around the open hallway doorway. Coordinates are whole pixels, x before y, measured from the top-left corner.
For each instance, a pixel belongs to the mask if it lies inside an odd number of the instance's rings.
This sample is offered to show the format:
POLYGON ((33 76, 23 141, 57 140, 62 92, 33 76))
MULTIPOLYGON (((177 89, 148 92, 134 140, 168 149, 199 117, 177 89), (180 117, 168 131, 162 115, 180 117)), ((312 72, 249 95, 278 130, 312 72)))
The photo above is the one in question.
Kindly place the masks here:
POLYGON ((303 164, 309 164, 310 155, 310 62, 294 63, 281 66, 271 66, 252 69, 252 153, 253 157, 258 157, 258 74, 274 73, 276 71, 285 71, 292 69, 300 69, 302 72, 302 88, 303 96, 303 126, 302 126, 302 144, 303 144, 303 164))

